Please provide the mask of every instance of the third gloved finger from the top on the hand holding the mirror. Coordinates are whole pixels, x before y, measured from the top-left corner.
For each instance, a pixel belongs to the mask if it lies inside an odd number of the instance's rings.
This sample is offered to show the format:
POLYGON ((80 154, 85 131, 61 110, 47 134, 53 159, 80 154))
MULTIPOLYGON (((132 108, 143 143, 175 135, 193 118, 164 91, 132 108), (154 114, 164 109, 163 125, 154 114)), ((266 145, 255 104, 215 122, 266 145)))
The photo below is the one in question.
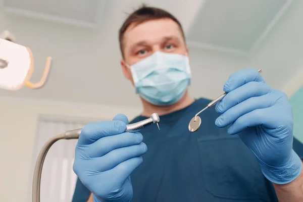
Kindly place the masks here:
POLYGON ((271 107, 272 104, 273 104, 273 99, 269 94, 258 96, 258 97, 250 97, 244 100, 243 102, 239 103, 238 105, 235 105, 234 107, 228 109, 226 112, 220 115, 216 119, 215 124, 219 128, 226 127, 232 124, 235 120, 237 120, 239 117, 243 116, 244 114, 247 114, 257 109, 264 109, 271 107))

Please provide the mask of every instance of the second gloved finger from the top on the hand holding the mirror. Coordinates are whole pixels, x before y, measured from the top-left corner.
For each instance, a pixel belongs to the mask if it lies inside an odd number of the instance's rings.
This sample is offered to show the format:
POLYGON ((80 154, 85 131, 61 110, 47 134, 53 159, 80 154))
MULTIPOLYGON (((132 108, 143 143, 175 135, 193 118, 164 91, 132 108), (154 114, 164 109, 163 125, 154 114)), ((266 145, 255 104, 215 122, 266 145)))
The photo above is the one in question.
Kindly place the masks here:
POLYGON ((250 97, 262 96, 270 91, 271 88, 264 82, 249 82, 227 93, 215 109, 218 113, 224 113, 250 97))

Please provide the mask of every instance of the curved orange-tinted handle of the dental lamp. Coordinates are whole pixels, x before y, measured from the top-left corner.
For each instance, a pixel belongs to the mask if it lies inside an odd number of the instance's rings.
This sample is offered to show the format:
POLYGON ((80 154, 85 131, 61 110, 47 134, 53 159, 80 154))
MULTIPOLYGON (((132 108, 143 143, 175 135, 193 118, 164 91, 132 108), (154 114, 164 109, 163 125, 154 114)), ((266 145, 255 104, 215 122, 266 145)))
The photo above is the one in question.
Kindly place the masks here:
POLYGON ((51 69, 51 65, 52 65, 52 57, 46 58, 44 72, 43 72, 43 75, 42 75, 40 81, 37 83, 32 83, 31 81, 29 81, 29 79, 31 78, 31 76, 34 72, 34 57, 33 57, 32 52, 30 51, 29 47, 26 47, 26 48, 27 48, 27 51, 28 51, 29 57, 30 57, 30 69, 28 70, 28 74, 26 76, 24 85, 31 89, 37 89, 37 88, 42 87, 47 80, 47 76, 48 76, 49 70, 51 69))

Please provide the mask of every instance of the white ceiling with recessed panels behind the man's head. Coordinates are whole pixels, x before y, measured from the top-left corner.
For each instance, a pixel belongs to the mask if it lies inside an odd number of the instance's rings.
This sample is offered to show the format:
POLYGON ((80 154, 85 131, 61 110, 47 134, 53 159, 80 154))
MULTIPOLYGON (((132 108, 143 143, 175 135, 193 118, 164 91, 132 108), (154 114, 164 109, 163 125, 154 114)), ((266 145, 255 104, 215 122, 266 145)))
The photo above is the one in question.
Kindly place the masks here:
MULTIPOLYGON (((142 1, 2 1, 0 32, 10 30, 18 43, 32 49, 36 66, 31 80, 40 79, 47 56, 54 58, 54 64, 43 88, 0 90, 0 96, 140 105, 121 72, 118 30, 126 13, 142 1)), ((303 1, 143 3, 168 10, 182 23, 194 75, 190 91, 195 97, 215 97, 230 73, 250 67, 263 68, 267 82, 282 89, 303 66, 303 1)))

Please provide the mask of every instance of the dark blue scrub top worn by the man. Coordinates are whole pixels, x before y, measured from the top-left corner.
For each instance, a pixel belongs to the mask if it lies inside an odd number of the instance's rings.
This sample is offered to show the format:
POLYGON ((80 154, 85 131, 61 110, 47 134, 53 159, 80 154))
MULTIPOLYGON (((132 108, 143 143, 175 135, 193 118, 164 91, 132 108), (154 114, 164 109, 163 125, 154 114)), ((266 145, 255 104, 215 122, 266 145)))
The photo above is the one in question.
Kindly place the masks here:
MULTIPOLYGON (((199 116, 194 133, 188 123, 210 100, 198 99, 189 107, 160 117, 160 131, 149 126, 140 132, 147 145, 143 163, 131 174, 133 202, 207 201, 275 202, 275 190, 262 174, 251 151, 227 128, 217 128, 214 107, 199 116)), ((132 122, 146 117, 137 117, 132 122)), ((303 157, 303 144, 293 148, 303 157)), ((77 181, 73 202, 86 202, 90 191, 77 181)))

